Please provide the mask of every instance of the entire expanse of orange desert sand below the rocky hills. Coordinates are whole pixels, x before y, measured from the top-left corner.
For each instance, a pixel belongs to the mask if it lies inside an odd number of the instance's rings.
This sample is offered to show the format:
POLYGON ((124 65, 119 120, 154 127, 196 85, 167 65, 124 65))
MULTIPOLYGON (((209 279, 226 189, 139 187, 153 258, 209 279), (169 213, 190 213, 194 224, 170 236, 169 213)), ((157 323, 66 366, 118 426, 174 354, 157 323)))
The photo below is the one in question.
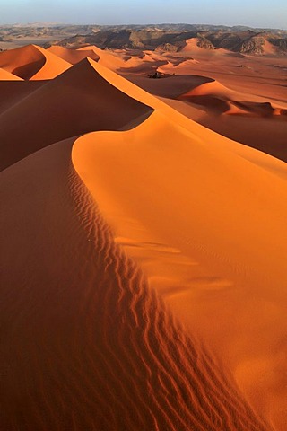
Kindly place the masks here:
POLYGON ((285 431, 284 65, 0 53, 1 429, 285 431))

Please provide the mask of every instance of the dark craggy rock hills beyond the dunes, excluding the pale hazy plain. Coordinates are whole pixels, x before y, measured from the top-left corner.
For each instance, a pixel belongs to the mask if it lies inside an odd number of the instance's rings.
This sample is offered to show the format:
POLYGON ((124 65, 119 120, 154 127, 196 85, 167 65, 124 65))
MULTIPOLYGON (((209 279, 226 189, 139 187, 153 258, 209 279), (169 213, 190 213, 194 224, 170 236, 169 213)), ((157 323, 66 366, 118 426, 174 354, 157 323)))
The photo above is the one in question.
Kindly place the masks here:
POLYGON ((141 48, 180 51, 186 40, 196 39, 196 44, 204 49, 228 49, 248 55, 287 54, 287 31, 255 30, 164 30, 162 28, 142 29, 102 29, 90 34, 74 35, 56 40, 52 44, 76 48, 84 44, 100 48, 141 48))

